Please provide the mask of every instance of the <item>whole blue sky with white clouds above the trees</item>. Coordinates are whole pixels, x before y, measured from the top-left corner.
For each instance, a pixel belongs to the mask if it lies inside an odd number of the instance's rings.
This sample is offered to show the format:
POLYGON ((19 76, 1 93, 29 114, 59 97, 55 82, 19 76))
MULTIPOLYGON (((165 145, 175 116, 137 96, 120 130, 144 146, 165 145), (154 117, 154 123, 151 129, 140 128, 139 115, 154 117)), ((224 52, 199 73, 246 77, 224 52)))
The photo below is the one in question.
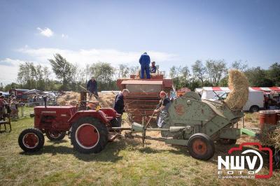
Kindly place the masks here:
POLYGON ((55 52, 80 66, 138 65, 142 52, 168 71, 196 59, 280 62, 280 1, 3 1, 0 82, 18 64, 48 64, 55 52))

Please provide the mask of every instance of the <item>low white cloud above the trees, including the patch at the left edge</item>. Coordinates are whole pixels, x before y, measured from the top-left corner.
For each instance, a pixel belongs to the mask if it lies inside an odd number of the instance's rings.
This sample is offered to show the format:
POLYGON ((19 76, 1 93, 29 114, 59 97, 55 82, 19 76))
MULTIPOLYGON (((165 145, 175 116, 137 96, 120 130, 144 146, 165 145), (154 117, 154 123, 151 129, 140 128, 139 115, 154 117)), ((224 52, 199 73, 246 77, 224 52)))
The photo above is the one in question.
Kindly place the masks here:
MULTIPOLYGON (((53 59, 55 53, 59 53, 72 64, 78 63, 80 67, 85 67, 85 64, 94 62, 109 62, 112 66, 118 64, 127 64, 129 66, 139 66, 139 57, 143 52, 123 52, 114 49, 89 49, 89 50, 67 50, 61 48, 29 48, 27 45, 20 48, 18 52, 28 56, 34 64, 41 64, 50 68, 48 59, 53 59)), ((147 51, 151 57, 151 61, 160 64, 160 69, 167 70, 172 66, 172 62, 177 59, 174 54, 157 51, 147 51), (166 66, 165 68, 162 68, 166 66)), ((6 58, 0 59, 0 83, 8 84, 16 81, 18 76, 19 64, 24 63, 24 60, 6 58)), ((30 60, 28 60, 30 62, 30 60)), ((51 69, 51 68, 50 68, 51 69)), ((55 78, 52 74, 51 78, 55 78)))

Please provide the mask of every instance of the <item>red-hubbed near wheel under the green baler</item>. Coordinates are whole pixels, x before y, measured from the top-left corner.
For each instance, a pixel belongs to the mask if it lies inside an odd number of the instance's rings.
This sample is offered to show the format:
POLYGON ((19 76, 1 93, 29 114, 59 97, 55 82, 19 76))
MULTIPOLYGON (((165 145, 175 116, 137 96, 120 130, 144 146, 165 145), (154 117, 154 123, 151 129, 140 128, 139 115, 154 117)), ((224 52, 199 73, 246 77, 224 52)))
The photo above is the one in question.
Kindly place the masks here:
POLYGON ((195 159, 208 160, 214 156, 214 142, 206 134, 193 134, 188 141, 188 150, 195 159))

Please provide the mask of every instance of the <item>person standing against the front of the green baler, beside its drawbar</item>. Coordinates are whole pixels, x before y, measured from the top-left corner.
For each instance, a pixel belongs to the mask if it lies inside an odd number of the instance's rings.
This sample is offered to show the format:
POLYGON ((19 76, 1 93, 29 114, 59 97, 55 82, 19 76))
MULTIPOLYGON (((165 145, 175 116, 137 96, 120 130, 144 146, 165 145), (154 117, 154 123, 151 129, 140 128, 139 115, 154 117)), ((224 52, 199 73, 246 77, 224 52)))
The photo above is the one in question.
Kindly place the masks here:
POLYGON ((165 91, 160 92, 160 108, 155 109, 154 113, 160 113, 158 117, 158 127, 162 127, 164 120, 162 120, 163 115, 166 115, 167 110, 170 106, 170 99, 167 97, 167 93, 165 91))

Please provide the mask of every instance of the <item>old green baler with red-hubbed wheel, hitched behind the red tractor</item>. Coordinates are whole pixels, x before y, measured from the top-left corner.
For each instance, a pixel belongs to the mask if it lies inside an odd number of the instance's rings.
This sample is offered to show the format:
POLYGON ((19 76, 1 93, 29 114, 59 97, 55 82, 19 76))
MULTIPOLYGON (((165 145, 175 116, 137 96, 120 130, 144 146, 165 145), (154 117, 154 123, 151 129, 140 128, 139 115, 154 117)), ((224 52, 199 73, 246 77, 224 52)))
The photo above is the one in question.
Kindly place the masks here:
POLYGON ((165 143, 188 146, 190 155, 207 160, 214 155, 214 141, 234 144, 240 137, 238 121, 242 111, 232 111, 223 101, 201 100, 195 92, 175 99, 163 115, 162 128, 151 129, 134 122, 132 132, 161 131, 165 143))

